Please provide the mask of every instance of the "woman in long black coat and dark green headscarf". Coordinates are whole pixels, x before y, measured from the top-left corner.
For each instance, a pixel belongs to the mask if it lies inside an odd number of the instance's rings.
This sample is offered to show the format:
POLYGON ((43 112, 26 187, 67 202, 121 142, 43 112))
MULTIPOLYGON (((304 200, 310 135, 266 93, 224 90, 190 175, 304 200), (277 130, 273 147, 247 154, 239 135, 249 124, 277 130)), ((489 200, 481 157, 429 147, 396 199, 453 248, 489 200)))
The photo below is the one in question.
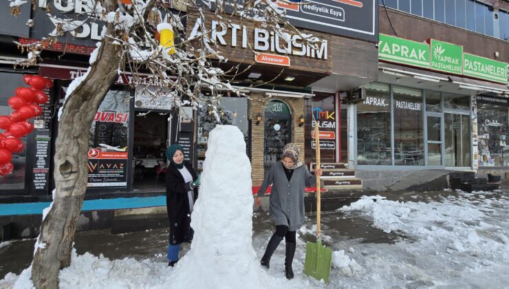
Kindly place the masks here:
POLYGON ((184 149, 172 144, 166 149, 166 158, 170 161, 166 168, 166 210, 170 223, 168 244, 169 266, 178 261, 180 244, 191 242, 191 212, 198 197, 199 176, 191 164, 184 161, 184 149))

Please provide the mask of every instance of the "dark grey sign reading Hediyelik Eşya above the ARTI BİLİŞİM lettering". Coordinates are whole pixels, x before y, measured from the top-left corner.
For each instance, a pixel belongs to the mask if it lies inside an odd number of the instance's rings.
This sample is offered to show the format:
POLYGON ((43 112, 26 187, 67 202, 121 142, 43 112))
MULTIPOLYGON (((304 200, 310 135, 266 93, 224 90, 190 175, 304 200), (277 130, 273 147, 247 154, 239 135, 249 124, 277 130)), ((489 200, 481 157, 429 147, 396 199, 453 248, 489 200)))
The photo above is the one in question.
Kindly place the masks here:
POLYGON ((275 2, 286 10, 285 17, 296 27, 378 41, 376 0, 307 0, 303 5, 275 2))

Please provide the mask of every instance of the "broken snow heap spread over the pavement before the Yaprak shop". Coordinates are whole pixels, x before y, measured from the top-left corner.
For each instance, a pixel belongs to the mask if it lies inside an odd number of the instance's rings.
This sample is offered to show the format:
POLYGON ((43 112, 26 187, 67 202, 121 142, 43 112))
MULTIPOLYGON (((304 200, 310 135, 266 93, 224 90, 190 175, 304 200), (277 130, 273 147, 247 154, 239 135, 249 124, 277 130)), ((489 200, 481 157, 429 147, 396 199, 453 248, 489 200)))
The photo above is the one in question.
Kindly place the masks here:
MULTIPOLYGON (((474 195, 470 195, 473 197, 474 195)), ((418 242, 433 242, 437 247, 448 248, 473 255, 480 253, 495 257, 509 257, 509 242, 503 227, 487 224, 486 213, 492 212, 495 200, 465 202, 463 198, 449 196, 442 202, 396 202, 380 195, 362 197, 361 200, 340 208, 343 212, 361 212, 373 219, 373 226, 385 233, 397 231, 418 242), (488 202, 488 204, 486 204, 488 202), (479 236, 478 232, 490 231, 479 236)))

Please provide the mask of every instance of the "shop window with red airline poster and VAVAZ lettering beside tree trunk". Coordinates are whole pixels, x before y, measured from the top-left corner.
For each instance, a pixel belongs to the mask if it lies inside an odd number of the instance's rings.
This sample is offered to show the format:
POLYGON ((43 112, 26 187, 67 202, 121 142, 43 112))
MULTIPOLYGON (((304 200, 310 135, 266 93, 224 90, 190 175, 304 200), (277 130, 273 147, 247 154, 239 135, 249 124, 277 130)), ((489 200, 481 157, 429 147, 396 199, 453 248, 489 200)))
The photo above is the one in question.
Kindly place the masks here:
POLYGON ((127 186, 130 92, 110 90, 89 129, 88 186, 127 186))

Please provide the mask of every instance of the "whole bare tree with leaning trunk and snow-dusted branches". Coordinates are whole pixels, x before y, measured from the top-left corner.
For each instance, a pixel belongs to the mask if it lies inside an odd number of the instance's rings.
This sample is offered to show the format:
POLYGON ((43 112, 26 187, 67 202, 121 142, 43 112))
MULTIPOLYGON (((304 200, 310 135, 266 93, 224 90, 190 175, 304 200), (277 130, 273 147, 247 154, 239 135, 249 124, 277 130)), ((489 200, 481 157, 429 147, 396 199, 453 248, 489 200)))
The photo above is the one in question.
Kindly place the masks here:
MULTIPOLYGON (((10 1, 13 14, 19 13, 19 6, 26 2, 10 1)), ((172 98, 177 107, 197 107, 206 101, 210 111, 219 118, 215 113, 219 98, 225 91, 236 93, 230 80, 243 71, 239 67, 226 72, 219 68, 226 59, 221 56, 220 47, 210 41, 210 29, 204 25, 205 19, 233 17, 274 30, 287 42, 290 41, 289 34, 299 34, 302 41, 311 45, 316 41, 310 35, 300 34, 285 21, 283 11, 270 0, 200 3, 179 0, 188 9, 199 13, 201 19, 201 32, 191 39, 184 36, 182 16, 168 13, 166 19, 161 19, 160 10, 169 6, 166 0, 132 0, 130 5, 116 0, 82 1, 87 4, 87 12, 76 19, 54 17, 52 21, 56 28, 48 39, 43 40, 51 41, 56 36, 72 33, 91 19, 105 24, 102 39, 91 54, 89 69, 69 85, 59 117, 54 156, 54 201, 43 216, 32 263, 32 281, 36 288, 58 288, 58 272, 70 264, 76 223, 87 188, 87 132, 105 94, 121 72, 131 72, 134 78, 148 73, 154 78, 153 83, 162 88, 150 91, 153 97, 172 98), (156 31, 161 23, 171 26, 175 32, 173 46, 158 41, 156 31), (173 54, 169 53, 173 50, 173 54), (206 100, 202 99, 202 89, 211 93, 206 100)), ((47 12, 51 14, 50 9, 47 12)), ((28 24, 38 25, 32 20, 28 24)), ((33 65, 39 61, 43 42, 21 46, 29 52, 23 64, 33 65)))

